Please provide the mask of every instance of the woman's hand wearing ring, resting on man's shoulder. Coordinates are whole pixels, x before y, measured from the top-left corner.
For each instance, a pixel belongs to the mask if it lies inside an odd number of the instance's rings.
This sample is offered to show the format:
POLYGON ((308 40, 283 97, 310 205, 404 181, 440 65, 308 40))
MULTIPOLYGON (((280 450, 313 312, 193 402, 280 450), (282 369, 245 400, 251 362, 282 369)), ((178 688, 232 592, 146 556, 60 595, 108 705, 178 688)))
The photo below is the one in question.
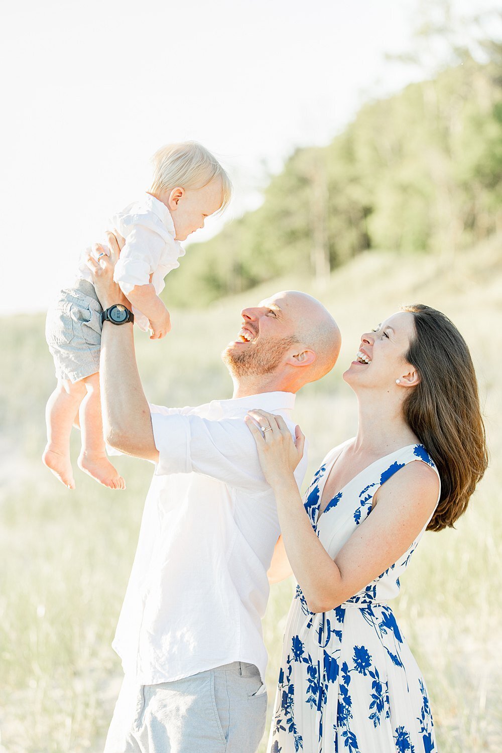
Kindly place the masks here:
POLYGON ((275 489, 282 483, 291 481, 294 469, 303 457, 305 446, 305 436, 300 426, 295 428, 293 441, 291 431, 281 416, 266 413, 265 410, 250 410, 245 422, 256 442, 267 483, 275 489))

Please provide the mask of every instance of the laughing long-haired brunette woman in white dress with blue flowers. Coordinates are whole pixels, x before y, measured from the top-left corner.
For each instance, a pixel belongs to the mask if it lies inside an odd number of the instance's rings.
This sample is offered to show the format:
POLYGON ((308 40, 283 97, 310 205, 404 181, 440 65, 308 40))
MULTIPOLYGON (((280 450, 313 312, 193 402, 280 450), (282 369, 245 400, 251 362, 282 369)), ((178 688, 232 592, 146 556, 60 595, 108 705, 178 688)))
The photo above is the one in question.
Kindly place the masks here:
POLYGON ((280 417, 248 417, 298 581, 269 751, 431 753, 424 680, 386 602, 424 530, 453 526, 485 471, 476 375, 452 322, 418 305, 364 334, 343 378, 357 437, 327 454, 305 504, 300 428, 295 446, 280 417))

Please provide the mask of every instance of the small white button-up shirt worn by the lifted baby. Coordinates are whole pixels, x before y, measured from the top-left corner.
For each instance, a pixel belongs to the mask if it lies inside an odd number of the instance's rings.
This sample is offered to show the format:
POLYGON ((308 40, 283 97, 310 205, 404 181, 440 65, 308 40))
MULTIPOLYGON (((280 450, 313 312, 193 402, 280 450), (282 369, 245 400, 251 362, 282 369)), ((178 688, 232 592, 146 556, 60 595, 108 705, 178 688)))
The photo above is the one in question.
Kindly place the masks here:
MULTIPOLYGON (((175 239, 175 224, 169 209, 151 194, 145 194, 114 215, 110 227, 126 239, 114 269, 114 281, 118 282, 120 290, 127 295, 135 285, 151 282, 159 295, 166 287, 164 278, 180 266, 178 258, 184 255, 184 248, 175 239)), ((108 246, 103 245, 103 248, 109 254, 108 246)), ((78 276, 93 282, 85 263, 90 250, 87 248, 81 256, 78 276)), ((147 331, 150 326, 147 317, 134 307, 132 311, 135 323, 147 331)))

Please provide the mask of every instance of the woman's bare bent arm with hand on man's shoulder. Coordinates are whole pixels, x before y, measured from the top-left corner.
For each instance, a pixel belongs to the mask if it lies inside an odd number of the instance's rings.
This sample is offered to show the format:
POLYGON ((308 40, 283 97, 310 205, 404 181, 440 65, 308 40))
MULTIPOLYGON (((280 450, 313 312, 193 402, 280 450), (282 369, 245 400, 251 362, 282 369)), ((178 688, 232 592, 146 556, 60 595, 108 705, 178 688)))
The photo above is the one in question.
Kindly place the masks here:
POLYGON ((263 474, 275 492, 285 550, 309 609, 328 611, 378 578, 409 549, 434 511, 439 493, 435 472, 412 462, 379 489, 378 505, 358 526, 333 561, 319 541, 294 481, 293 471, 303 453, 303 434, 297 427, 297 446, 278 416, 250 411, 272 431, 261 433, 248 419, 257 443, 263 474))

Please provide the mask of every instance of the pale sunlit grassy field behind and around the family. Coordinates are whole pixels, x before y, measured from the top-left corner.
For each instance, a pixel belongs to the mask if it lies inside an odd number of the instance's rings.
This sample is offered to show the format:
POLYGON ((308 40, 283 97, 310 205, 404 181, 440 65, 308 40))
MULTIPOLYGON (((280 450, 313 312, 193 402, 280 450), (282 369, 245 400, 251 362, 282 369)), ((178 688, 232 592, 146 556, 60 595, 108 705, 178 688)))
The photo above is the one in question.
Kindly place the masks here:
MULTIPOLYGON (((421 302, 446 312, 470 344, 491 467, 457 529, 424 536, 395 608, 431 693, 440 751, 500 751, 500 239, 450 259, 372 252, 333 274, 322 289, 293 276, 210 309, 173 312, 166 340, 137 337, 148 398, 184 405, 230 397, 219 354, 239 331, 240 309, 289 287, 320 297, 344 336, 339 365, 297 399, 297 420, 311 444, 309 473, 356 429, 354 397, 340 374, 361 331, 402 303, 421 302)), ((78 488, 66 491, 39 461, 44 404, 53 389, 43 317, 4 319, 2 343, 0 753, 100 753, 121 679, 110 643, 151 467, 118 459, 128 487, 120 494, 78 471, 78 488)), ((76 458, 77 433, 73 443, 76 458)), ((292 587, 272 587, 264 620, 269 705, 292 587)))

